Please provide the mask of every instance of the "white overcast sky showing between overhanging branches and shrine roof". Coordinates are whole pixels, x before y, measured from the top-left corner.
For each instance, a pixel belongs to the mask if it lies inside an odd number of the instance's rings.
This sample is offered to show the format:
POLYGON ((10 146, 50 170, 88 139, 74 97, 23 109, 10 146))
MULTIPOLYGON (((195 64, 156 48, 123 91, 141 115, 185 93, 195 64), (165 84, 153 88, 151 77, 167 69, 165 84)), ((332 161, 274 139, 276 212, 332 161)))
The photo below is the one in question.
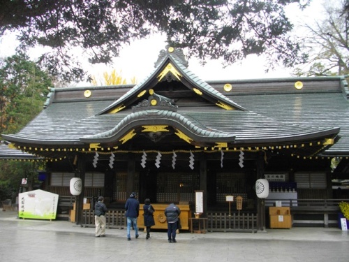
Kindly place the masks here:
MULTIPOLYGON (((296 4, 292 4, 286 8, 288 17, 290 17, 297 29, 297 34, 302 34, 300 27, 304 22, 311 24, 314 20, 321 18, 322 0, 313 0, 311 6, 301 11, 296 4)), ((15 38, 8 36, 1 39, 0 55, 9 56, 15 52, 15 38)), ((165 37, 156 35, 148 39, 134 41, 131 45, 125 46, 120 52, 120 56, 114 59, 114 64, 105 66, 98 64, 91 66, 86 63, 85 69, 92 75, 101 76, 104 71, 110 72, 116 69, 126 79, 131 79, 133 76, 138 82, 142 81, 154 68, 154 63, 158 58, 161 50, 165 49, 165 37)), ((33 52, 35 57, 36 52, 33 52)), ((253 54, 248 55, 244 61, 241 61, 233 66, 223 68, 220 61, 207 61, 205 66, 201 66, 196 59, 188 61, 188 68, 202 80, 238 80, 238 79, 255 79, 255 78, 285 78, 290 77, 292 69, 278 67, 277 70, 267 69, 263 57, 257 57, 253 54)), ((79 83, 79 86, 89 85, 89 83, 79 83)))

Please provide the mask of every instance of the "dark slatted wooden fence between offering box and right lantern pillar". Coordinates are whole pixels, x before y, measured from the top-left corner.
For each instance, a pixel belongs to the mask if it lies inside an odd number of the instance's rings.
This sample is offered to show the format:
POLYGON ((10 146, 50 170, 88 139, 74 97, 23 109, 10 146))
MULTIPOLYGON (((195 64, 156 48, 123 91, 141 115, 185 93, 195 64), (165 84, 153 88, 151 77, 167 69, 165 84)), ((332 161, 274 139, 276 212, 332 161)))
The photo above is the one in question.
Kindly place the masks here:
POLYGON ((210 232, 252 232, 257 231, 257 216, 253 213, 209 212, 207 228, 210 232))

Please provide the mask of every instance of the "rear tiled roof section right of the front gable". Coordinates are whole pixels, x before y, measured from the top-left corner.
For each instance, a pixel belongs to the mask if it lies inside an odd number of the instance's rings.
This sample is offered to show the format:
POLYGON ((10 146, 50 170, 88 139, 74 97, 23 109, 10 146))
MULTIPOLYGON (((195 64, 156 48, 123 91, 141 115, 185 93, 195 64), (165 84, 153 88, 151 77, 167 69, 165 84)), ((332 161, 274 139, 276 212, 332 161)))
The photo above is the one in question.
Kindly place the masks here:
POLYGON ((294 125, 339 127, 341 139, 324 154, 349 155, 348 85, 343 77, 284 78, 210 82, 217 89, 229 82, 236 103, 265 117, 294 125), (295 89, 301 81, 303 89, 295 89))

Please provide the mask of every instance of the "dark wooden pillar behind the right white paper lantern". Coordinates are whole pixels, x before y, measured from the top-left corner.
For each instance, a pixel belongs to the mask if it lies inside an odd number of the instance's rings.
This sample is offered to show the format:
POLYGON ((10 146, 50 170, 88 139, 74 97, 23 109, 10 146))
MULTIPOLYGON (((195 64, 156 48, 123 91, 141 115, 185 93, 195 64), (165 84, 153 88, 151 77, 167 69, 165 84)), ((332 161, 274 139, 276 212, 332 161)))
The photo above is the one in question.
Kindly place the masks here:
MULTIPOLYGON (((260 152, 256 159, 256 180, 264 178, 265 161, 264 154, 260 152)), ((266 232, 265 230, 265 199, 257 198, 257 230, 266 232)))

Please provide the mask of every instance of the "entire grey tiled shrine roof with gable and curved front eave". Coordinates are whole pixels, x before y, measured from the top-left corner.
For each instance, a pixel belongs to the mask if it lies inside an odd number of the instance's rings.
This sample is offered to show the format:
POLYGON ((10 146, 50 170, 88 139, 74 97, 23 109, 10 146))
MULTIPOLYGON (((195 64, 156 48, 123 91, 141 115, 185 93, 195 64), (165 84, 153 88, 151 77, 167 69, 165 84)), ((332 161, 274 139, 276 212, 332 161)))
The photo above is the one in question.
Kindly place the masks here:
POLYGON ((334 138, 341 128, 341 140, 327 152, 349 155, 349 124, 345 121, 349 104, 347 87, 341 78, 207 83, 191 73, 181 59, 165 55, 149 78, 130 88, 52 89, 46 108, 38 117, 20 132, 3 137, 22 145, 82 147, 98 140, 117 141, 134 126, 150 123, 167 124, 209 143, 221 139, 238 146, 286 145, 334 138), (191 83, 186 87, 199 89, 209 103, 197 106, 188 103, 179 106, 177 112, 166 108, 133 112, 131 105, 140 101, 140 92, 156 85, 159 70, 169 61, 191 83), (304 82, 304 89, 295 90, 297 80, 304 82), (232 92, 224 92, 225 83, 232 85, 232 92), (89 98, 84 96, 88 89, 93 94, 89 98), (223 101, 237 110, 220 108, 215 101, 223 101), (128 105, 119 112, 107 113, 124 103, 128 105))

